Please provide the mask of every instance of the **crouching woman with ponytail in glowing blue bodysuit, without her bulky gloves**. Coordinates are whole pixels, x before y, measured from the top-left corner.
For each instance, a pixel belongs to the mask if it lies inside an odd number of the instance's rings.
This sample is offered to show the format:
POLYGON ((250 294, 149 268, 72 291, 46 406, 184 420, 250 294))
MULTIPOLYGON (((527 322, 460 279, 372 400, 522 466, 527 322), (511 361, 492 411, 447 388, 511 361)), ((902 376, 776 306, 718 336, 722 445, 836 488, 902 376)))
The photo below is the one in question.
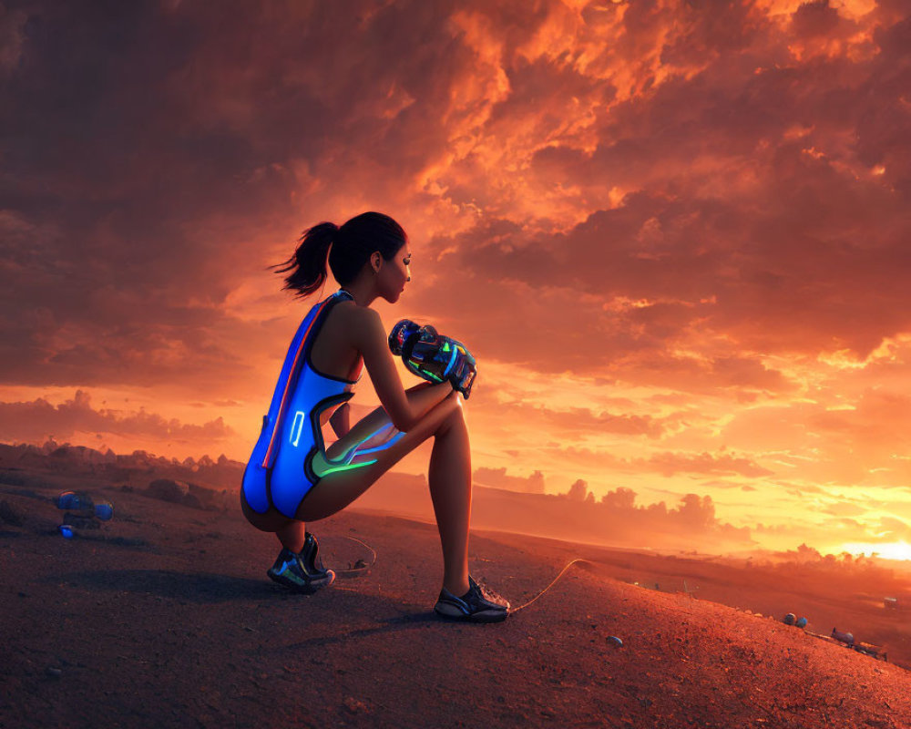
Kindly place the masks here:
POLYGON ((433 437, 428 480, 444 564, 435 611, 456 620, 505 620, 508 603, 485 593, 468 574, 471 452, 457 385, 424 382, 405 390, 390 338, 370 308, 378 297, 396 303, 411 280, 408 238, 397 222, 378 212, 365 212, 342 227, 322 222, 304 231, 296 252, 279 269, 289 273, 284 288, 301 297, 320 289, 327 253, 342 288, 303 320, 244 471, 244 516, 281 541, 267 573, 305 592, 331 584, 335 575, 322 568, 306 522, 348 506, 433 437), (382 406, 349 427, 347 401, 364 365, 382 406), (338 436, 328 448, 322 439, 327 422, 338 436))

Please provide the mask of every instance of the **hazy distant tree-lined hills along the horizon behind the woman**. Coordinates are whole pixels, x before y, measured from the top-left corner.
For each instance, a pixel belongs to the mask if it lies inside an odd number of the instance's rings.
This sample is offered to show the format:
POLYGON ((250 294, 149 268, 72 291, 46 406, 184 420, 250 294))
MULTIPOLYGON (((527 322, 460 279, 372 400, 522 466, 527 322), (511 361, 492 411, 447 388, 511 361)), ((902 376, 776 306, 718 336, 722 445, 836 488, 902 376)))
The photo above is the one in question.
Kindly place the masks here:
MULTIPOLYGON (((224 508, 234 508, 246 464, 221 455, 199 459, 158 457, 144 450, 129 455, 48 440, 42 446, 0 444, 0 465, 9 470, 45 469, 89 476, 115 485, 147 489, 159 479, 221 492, 224 508)), ((2 474, 0 474, 2 476, 2 474)), ((525 493, 475 484, 472 527, 583 541, 612 547, 711 551, 754 549, 750 530, 722 523, 708 496, 687 494, 679 504, 639 506, 636 493, 616 488, 595 498, 578 481, 565 494, 525 493)), ((434 521, 425 476, 384 474, 353 508, 434 521)))

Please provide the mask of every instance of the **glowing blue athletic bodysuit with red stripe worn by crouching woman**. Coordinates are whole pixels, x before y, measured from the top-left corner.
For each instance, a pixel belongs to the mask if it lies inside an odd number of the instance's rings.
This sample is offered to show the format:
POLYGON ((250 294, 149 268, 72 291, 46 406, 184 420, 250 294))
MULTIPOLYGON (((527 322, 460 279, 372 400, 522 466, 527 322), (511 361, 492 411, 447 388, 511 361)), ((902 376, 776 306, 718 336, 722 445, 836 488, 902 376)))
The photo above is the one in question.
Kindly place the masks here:
POLYGON ((269 415, 262 417, 260 437, 243 472, 243 497, 261 514, 274 506, 293 519, 304 496, 322 477, 370 466, 376 463, 370 454, 392 446, 404 436, 387 423, 351 444, 341 457, 326 457, 320 416, 328 408, 350 400, 352 387, 360 377, 345 380, 323 375, 313 368, 311 353, 322 324, 333 307, 343 301, 353 301, 353 296, 340 289, 315 304, 298 327, 285 355, 269 415), (381 434, 372 447, 363 447, 381 434))

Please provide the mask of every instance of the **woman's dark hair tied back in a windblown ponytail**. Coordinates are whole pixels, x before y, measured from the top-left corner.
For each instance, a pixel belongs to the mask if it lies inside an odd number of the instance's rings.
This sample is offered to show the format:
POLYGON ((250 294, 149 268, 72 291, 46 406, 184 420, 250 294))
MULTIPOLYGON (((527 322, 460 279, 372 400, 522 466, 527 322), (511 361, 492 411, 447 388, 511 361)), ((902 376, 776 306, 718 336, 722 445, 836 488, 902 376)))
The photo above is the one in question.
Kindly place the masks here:
POLYGON ((329 268, 335 280, 344 286, 353 282, 371 253, 379 251, 384 261, 390 261, 407 240, 402 226, 388 215, 363 212, 341 228, 333 222, 321 222, 303 231, 294 255, 270 268, 277 268, 276 273, 290 272, 281 288, 295 291, 296 298, 303 298, 325 282, 327 252, 329 268))

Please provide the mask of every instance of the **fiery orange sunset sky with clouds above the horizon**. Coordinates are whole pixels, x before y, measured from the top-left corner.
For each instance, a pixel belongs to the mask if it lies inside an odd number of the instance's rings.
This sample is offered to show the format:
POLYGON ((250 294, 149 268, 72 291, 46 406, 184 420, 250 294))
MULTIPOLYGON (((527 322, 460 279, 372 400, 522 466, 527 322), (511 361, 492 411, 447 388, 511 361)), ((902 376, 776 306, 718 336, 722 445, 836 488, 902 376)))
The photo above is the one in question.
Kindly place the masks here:
POLYGON ((0 0, 0 440, 246 461, 265 267, 381 210, 478 482, 911 541, 906 2, 490 5, 0 0))

